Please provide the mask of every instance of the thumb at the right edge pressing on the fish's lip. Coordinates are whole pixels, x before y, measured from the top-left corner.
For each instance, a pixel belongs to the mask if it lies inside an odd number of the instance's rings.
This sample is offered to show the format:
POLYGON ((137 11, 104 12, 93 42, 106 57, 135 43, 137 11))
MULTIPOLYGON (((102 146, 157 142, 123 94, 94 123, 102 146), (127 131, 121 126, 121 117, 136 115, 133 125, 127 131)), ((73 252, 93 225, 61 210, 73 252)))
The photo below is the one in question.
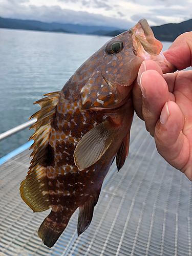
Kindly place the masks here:
POLYGON ((177 37, 163 54, 178 70, 192 66, 192 32, 177 37))

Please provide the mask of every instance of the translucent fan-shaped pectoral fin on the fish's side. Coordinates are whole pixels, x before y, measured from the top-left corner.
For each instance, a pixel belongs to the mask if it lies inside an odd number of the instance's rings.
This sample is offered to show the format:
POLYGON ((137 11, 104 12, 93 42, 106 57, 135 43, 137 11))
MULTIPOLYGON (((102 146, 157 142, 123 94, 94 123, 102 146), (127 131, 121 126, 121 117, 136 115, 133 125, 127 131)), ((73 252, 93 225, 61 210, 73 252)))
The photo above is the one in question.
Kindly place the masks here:
POLYGON ((106 118, 86 133, 74 151, 74 162, 77 167, 83 170, 97 162, 111 145, 118 130, 119 127, 106 118))

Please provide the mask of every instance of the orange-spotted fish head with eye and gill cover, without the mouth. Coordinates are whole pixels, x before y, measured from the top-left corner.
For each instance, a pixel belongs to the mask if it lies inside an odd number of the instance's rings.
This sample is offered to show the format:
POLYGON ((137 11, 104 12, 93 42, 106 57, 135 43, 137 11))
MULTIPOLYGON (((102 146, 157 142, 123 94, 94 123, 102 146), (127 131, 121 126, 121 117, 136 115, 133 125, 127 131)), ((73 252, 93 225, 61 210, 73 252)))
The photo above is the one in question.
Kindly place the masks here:
POLYGON ((130 32, 125 31, 106 42, 87 60, 92 74, 80 90, 81 109, 103 110, 122 105, 131 95, 131 85, 142 61, 133 52, 130 32))

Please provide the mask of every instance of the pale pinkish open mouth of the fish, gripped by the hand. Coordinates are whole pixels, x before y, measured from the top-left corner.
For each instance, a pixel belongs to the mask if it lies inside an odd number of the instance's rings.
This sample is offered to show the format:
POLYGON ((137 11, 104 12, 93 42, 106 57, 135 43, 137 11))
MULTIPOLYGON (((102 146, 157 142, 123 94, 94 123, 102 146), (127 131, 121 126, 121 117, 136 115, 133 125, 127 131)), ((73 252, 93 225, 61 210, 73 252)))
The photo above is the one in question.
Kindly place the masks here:
POLYGON ((129 30, 133 39, 133 52, 136 56, 145 59, 152 59, 158 63, 163 73, 175 72, 177 69, 168 62, 162 53, 163 45, 154 36, 151 27, 146 19, 141 19, 129 30))

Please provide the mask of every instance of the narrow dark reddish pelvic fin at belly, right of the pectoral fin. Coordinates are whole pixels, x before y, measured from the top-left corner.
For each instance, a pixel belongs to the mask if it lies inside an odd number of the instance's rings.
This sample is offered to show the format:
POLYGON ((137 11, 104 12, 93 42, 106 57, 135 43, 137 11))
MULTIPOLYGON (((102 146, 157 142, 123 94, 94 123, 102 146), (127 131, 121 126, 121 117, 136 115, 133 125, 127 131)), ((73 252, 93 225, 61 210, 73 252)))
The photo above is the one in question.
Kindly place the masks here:
POLYGON ((116 155, 116 165, 117 165, 118 172, 123 167, 124 162, 129 154, 129 147, 130 147, 130 132, 124 137, 116 155))

